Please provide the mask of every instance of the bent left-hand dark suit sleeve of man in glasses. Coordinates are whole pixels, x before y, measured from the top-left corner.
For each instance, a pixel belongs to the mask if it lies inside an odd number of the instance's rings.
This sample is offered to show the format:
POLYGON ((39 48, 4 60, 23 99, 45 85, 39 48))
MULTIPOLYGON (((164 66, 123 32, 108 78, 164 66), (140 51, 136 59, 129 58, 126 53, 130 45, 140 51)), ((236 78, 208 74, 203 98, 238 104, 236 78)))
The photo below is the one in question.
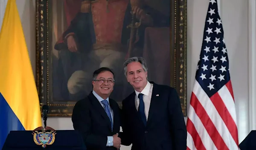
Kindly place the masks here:
POLYGON ((106 147, 107 136, 91 133, 90 105, 89 102, 81 104, 77 102, 73 108, 72 122, 75 130, 78 130, 84 139, 86 146, 102 149, 106 147))

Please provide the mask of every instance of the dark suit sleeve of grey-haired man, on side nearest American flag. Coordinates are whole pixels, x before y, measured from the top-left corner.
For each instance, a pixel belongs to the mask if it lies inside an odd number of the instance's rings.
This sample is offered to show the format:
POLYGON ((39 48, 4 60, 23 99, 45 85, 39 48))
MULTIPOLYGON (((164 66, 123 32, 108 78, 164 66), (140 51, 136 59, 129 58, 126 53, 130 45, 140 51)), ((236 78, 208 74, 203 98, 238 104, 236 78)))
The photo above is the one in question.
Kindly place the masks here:
POLYGON ((169 94, 169 116, 174 139, 174 150, 186 150, 187 130, 184 121, 180 99, 174 88, 169 94))

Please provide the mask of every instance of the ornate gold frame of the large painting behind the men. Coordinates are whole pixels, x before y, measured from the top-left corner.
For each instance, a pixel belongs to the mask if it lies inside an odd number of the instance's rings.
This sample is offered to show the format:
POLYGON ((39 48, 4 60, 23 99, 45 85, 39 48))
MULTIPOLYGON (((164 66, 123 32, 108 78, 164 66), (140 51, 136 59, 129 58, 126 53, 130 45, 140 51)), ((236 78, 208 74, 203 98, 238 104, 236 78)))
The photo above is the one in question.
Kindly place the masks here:
MULTIPOLYGON (((145 0, 147 1, 147 0, 145 0)), ((150 0, 148 0, 150 1, 150 0)), ((76 101, 58 101, 52 96, 53 14, 50 0, 36 0, 36 85, 40 105, 49 106, 49 116, 70 117, 76 101)), ((177 90, 183 115, 186 116, 186 0, 169 0, 170 4, 170 86, 177 90)), ((148 61, 147 61, 148 62, 148 61)), ((149 67, 150 68, 150 67, 149 67)), ((152 72, 152 70, 151 70, 152 72)), ((92 73, 91 73, 92 74, 92 73)), ((116 85, 115 85, 116 86, 116 85)), ((58 89, 58 88, 57 88, 58 89)), ((121 101, 118 102, 122 107, 121 101)))

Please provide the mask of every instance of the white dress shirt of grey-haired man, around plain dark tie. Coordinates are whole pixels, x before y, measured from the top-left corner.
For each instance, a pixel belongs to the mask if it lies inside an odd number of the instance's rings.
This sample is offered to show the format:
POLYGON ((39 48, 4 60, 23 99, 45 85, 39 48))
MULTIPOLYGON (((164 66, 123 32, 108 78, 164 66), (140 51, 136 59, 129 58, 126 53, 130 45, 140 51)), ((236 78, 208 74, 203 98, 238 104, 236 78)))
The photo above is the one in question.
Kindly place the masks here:
POLYGON ((148 111, 149 111, 149 107, 150 107, 150 102, 151 102, 151 96, 152 96, 152 91, 153 91, 153 84, 151 83, 147 83, 147 85, 145 86, 145 88, 141 91, 138 92, 136 90, 134 90, 136 95, 135 95, 135 107, 138 111, 139 105, 140 105, 140 99, 138 97, 139 93, 143 94, 143 102, 145 105, 145 115, 146 115, 146 119, 148 121, 148 111))

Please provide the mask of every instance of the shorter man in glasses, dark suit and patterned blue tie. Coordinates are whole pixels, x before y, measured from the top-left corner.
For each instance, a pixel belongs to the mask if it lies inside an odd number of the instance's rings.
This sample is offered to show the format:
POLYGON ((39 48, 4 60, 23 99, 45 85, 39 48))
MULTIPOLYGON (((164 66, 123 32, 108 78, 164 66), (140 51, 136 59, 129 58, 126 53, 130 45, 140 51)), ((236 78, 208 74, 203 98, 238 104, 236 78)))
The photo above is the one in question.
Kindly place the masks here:
POLYGON ((93 91, 73 108, 73 127, 82 133, 87 150, 116 150, 120 147, 119 106, 108 98, 114 82, 114 74, 109 68, 94 71, 93 91))

